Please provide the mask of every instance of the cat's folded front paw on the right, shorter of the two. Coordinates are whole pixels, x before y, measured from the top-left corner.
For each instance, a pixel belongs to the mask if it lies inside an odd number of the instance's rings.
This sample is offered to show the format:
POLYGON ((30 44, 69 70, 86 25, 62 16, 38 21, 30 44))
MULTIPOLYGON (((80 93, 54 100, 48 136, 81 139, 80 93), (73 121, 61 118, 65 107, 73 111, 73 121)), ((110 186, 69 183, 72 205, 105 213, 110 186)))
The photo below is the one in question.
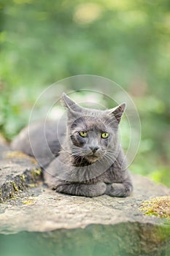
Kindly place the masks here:
POLYGON ((105 194, 111 195, 112 197, 128 197, 132 191, 133 185, 131 182, 112 183, 107 184, 107 190, 105 194))

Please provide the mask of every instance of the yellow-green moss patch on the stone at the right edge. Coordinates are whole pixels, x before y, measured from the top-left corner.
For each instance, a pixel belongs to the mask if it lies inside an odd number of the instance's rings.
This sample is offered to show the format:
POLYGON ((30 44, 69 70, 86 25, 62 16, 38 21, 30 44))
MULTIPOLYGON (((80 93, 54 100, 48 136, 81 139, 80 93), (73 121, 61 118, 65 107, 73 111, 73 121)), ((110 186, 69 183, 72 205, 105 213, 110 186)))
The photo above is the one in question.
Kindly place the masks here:
POLYGON ((170 196, 155 197, 142 203, 144 214, 155 215, 170 220, 170 196))

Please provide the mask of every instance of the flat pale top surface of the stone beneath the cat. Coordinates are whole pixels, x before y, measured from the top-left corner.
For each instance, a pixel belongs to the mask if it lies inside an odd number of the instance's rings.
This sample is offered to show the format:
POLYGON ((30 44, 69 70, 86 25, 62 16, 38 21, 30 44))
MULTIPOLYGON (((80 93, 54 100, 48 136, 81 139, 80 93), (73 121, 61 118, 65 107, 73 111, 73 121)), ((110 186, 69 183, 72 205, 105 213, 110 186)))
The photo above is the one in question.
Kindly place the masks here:
POLYGON ((169 195, 166 187, 152 184, 147 178, 134 176, 134 193, 118 198, 78 197, 53 192, 43 185, 23 192, 1 205, 0 232, 51 230, 86 227, 90 224, 115 225, 123 222, 159 224, 161 219, 140 211, 143 200, 169 195))

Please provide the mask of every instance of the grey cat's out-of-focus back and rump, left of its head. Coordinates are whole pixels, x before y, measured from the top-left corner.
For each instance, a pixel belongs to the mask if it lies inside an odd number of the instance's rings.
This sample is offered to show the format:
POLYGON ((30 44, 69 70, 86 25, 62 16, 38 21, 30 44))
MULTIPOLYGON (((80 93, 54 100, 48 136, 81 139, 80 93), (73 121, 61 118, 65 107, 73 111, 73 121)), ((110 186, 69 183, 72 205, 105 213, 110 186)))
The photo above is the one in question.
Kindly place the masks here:
POLYGON ((65 133, 65 119, 60 122, 36 121, 20 131, 19 135, 12 141, 11 148, 36 157, 41 161, 42 166, 47 165, 54 157, 58 156, 65 133))

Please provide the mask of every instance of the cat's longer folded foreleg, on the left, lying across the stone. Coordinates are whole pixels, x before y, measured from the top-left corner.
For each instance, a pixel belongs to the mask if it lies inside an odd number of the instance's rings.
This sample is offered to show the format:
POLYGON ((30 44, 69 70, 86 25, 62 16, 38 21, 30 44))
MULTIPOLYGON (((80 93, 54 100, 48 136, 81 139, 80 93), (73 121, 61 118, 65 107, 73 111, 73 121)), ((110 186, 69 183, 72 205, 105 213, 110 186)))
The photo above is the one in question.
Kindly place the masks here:
POLYGON ((96 184, 58 184, 53 187, 56 192, 61 192, 69 195, 82 195, 85 197, 97 197, 104 195, 107 184, 98 182, 96 184))

